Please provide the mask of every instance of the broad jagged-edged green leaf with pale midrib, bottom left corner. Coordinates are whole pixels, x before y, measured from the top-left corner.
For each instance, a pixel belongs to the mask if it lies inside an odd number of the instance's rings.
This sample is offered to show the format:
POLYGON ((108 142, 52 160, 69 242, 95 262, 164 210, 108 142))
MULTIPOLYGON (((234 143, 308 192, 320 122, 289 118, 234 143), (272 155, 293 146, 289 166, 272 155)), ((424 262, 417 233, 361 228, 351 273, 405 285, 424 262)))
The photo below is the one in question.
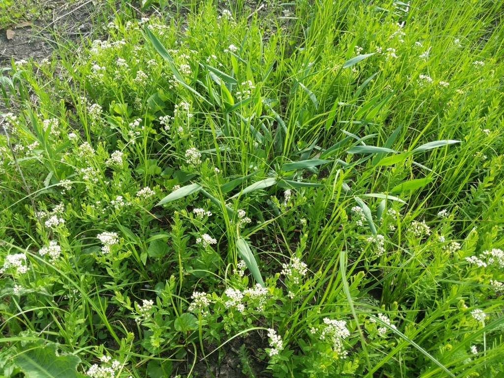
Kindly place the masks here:
POLYGON ((56 345, 43 341, 25 346, 15 359, 26 378, 85 378, 77 371, 81 359, 73 354, 56 355, 56 345))

